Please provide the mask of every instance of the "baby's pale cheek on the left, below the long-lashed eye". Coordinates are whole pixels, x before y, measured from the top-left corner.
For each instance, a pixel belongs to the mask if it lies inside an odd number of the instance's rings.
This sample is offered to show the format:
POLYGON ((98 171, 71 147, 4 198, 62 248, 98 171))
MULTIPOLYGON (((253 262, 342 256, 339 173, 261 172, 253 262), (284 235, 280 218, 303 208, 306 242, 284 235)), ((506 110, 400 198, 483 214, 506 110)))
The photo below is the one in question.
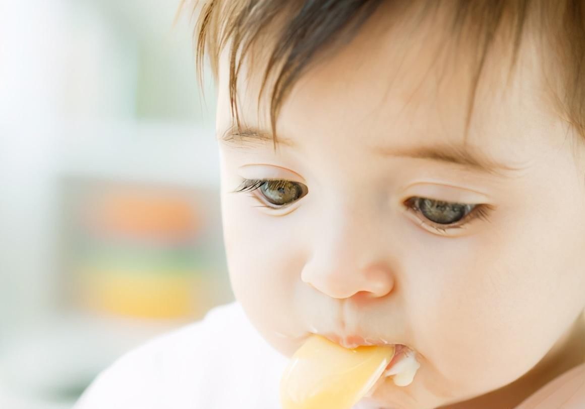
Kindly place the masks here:
POLYGON ((302 232, 287 218, 264 214, 246 194, 222 197, 223 236, 232 290, 254 327, 280 352, 290 355, 291 338, 302 324, 295 292, 303 259, 302 232))

